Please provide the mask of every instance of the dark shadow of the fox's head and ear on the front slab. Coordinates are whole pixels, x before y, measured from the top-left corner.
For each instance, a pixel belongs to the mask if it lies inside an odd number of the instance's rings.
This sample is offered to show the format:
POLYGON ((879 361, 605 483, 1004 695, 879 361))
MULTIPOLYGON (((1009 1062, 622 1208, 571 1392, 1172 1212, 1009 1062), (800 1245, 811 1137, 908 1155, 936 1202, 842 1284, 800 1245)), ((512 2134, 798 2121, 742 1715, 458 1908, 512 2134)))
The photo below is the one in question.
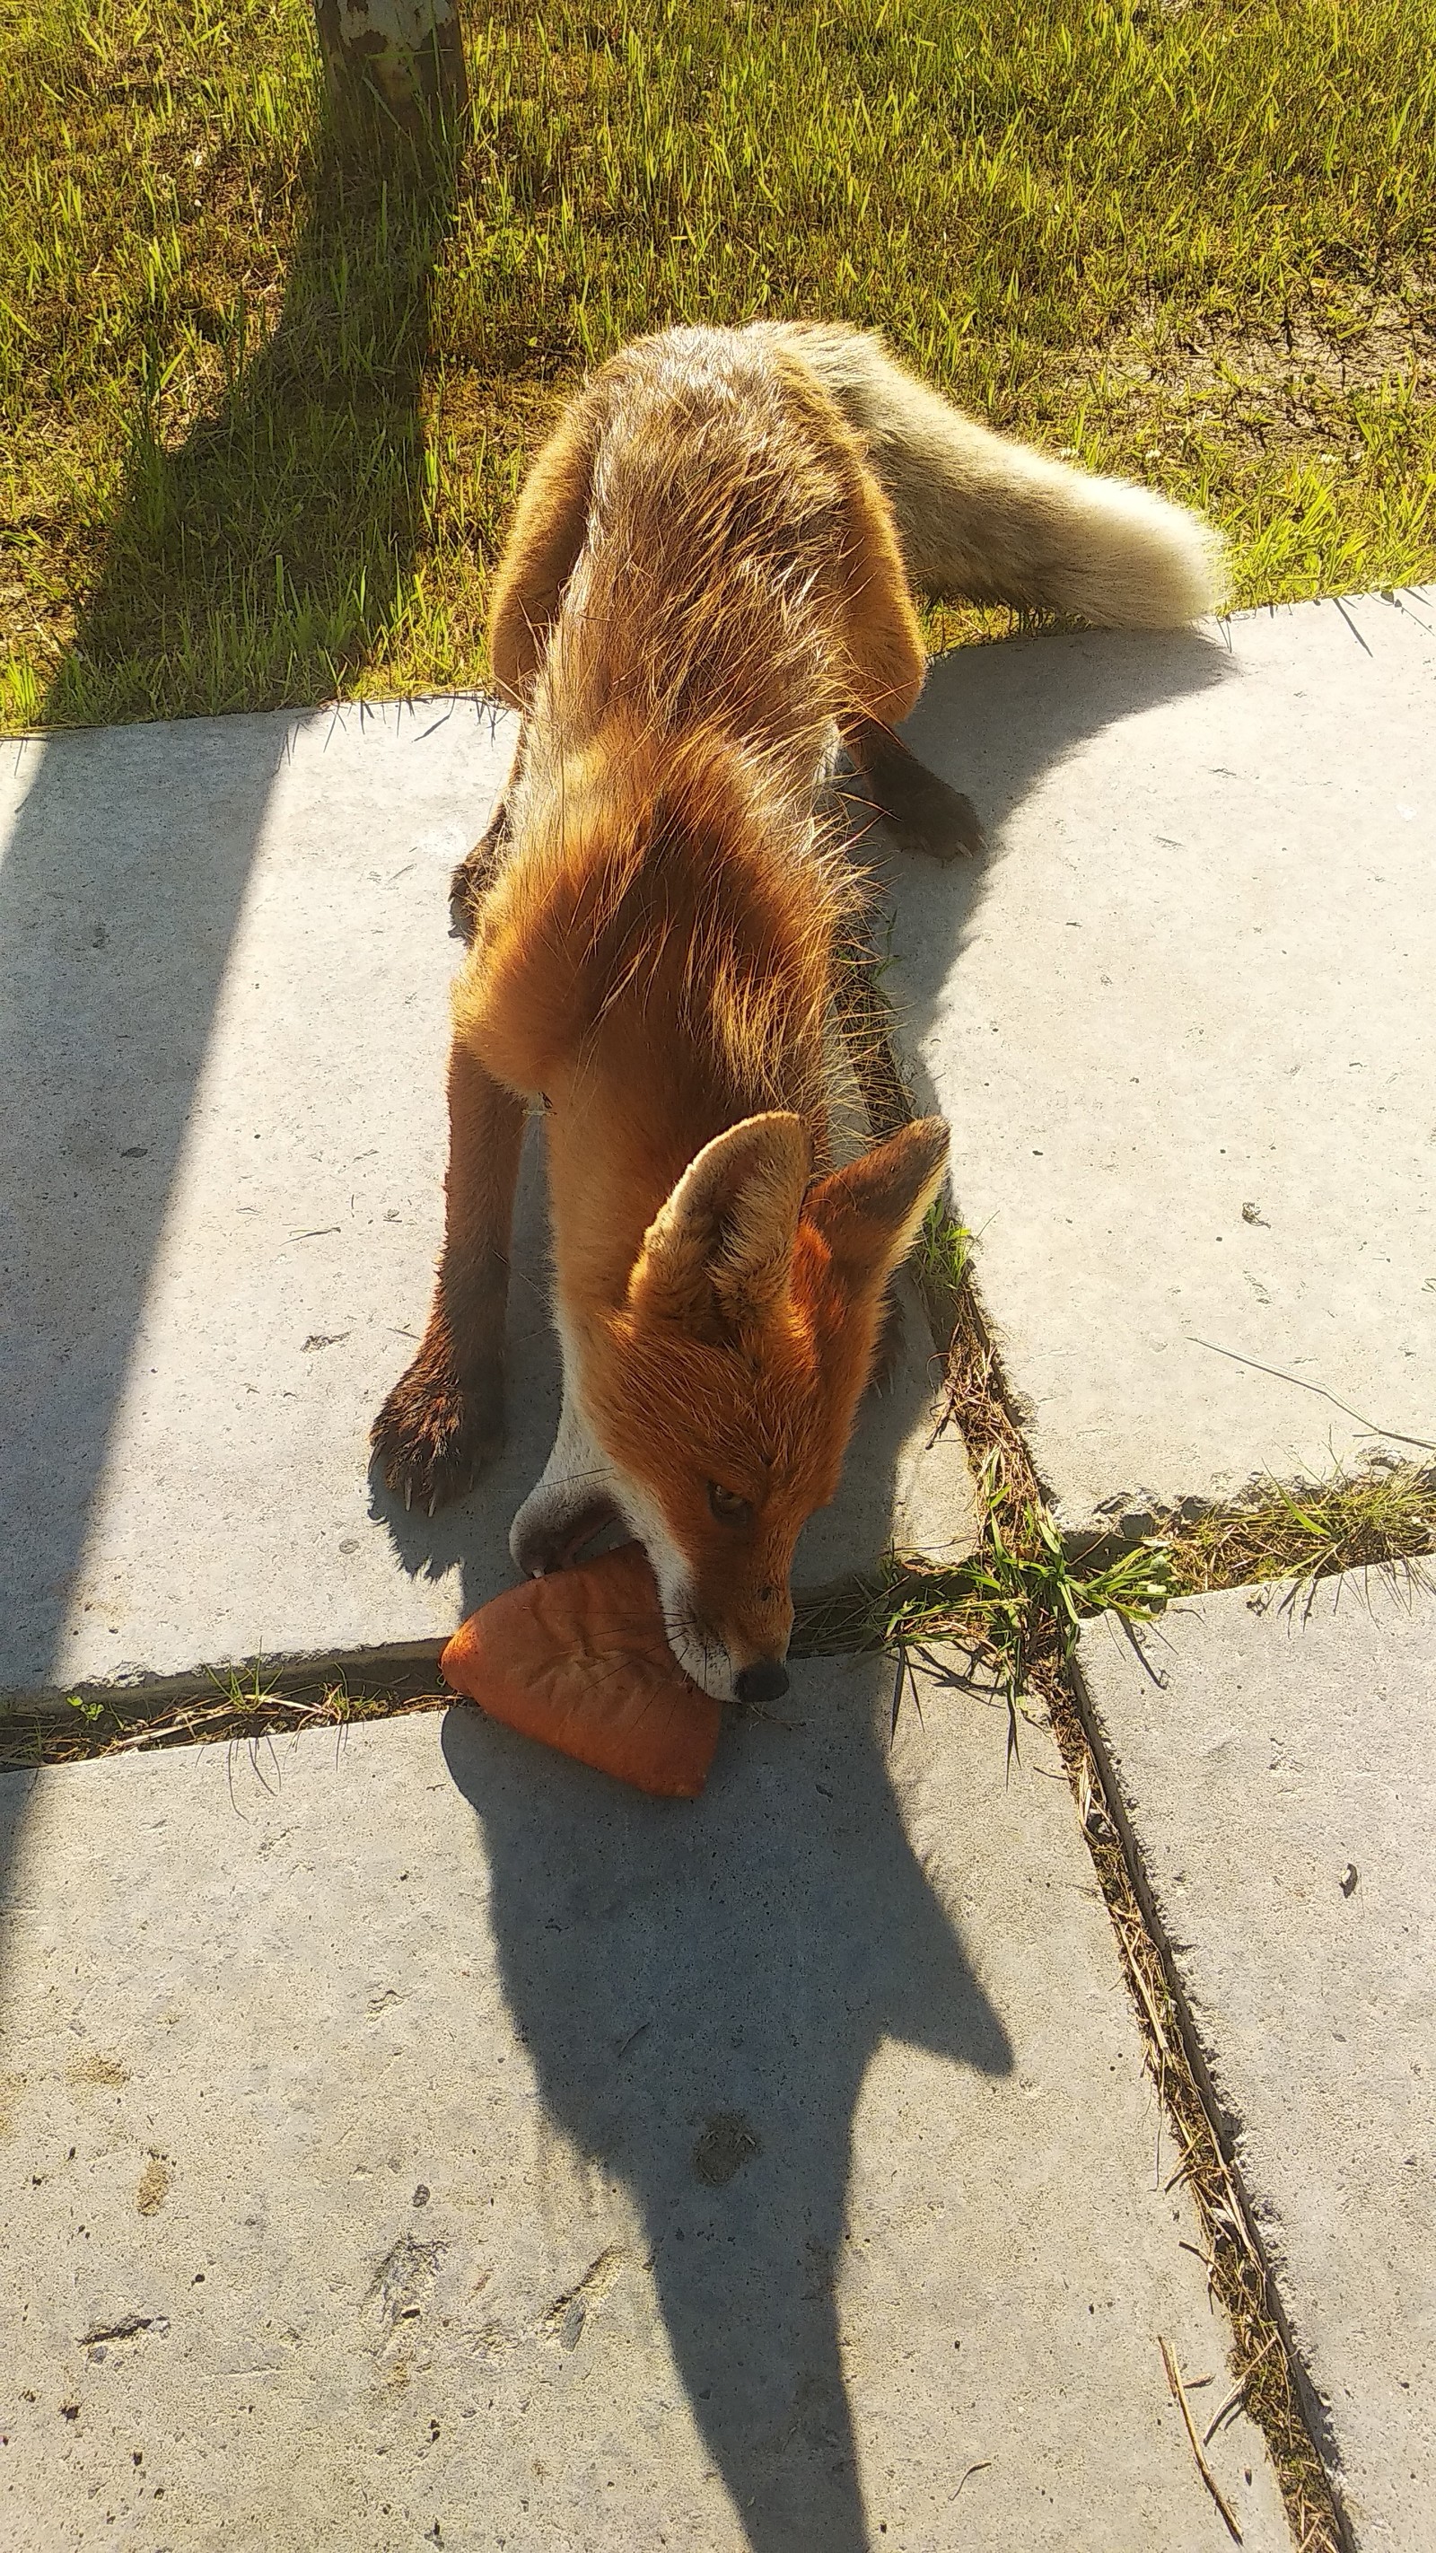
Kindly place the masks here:
POLYGON ((905 2040, 1013 2068, 913 1853, 875 1680, 834 1662, 780 1718, 729 1716, 694 1805, 538 1759, 464 1705, 444 1721, 515 2030, 551 2119, 643 2216, 673 2359, 755 2553, 870 2543, 837 2285, 872 2053, 905 2040))

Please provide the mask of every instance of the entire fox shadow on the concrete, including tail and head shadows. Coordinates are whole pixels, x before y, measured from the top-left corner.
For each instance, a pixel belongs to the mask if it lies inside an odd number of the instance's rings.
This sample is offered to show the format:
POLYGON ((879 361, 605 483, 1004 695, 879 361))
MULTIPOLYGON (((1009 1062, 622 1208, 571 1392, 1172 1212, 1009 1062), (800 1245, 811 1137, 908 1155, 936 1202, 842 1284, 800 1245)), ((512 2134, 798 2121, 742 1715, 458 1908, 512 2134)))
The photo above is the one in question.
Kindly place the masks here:
MULTIPOLYGON (((1194 633, 1046 638, 934 664, 905 740, 974 799, 987 853, 939 868, 888 853, 877 827, 854 840, 877 909, 898 904, 908 1070, 962 965, 1007 814, 1102 728, 1227 674, 1224 651, 1194 633)), ((533 1282, 523 1345, 510 1330, 515 1396, 553 1389, 551 1340, 533 1330, 548 1261, 533 1149, 525 1182, 515 1259, 533 1282)), ((905 1317, 911 1384, 931 1340, 913 1335, 916 1305, 905 1317)), ((865 1560, 883 1547, 908 1422, 898 1394, 867 1396, 824 1557, 842 1542, 865 1560)), ((472 1601, 477 1524, 464 1509, 436 1524, 388 1514, 406 1565, 441 1550, 472 1601)), ((803 1550, 793 1575, 803 1585, 803 1550)), ((814 1665, 778 1718, 729 1713, 694 1808, 538 1762, 467 1708, 444 1723, 543 2104, 643 2216, 673 2359, 755 2553, 870 2548, 837 2280, 875 2050, 900 2040, 985 2076, 1013 2068, 1002 2017, 913 1853, 872 1677, 872 1665, 814 1665)))

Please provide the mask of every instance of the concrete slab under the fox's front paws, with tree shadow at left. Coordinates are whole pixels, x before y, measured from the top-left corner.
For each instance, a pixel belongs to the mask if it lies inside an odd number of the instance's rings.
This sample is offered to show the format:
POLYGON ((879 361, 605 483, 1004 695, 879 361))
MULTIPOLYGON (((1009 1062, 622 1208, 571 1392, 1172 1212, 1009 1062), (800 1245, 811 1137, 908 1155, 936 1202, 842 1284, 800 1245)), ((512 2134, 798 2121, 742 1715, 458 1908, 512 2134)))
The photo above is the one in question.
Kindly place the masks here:
MULTIPOLYGON (((8 748, 0 1693, 383 1662, 510 1583, 556 1422, 538 1159, 505 1460, 434 1524, 367 1481, 439 1248, 446 881, 510 745, 444 700, 8 748)), ((956 1440, 918 1491, 931 1417, 918 1328, 801 1575, 934 1501, 972 1537, 956 1440)))

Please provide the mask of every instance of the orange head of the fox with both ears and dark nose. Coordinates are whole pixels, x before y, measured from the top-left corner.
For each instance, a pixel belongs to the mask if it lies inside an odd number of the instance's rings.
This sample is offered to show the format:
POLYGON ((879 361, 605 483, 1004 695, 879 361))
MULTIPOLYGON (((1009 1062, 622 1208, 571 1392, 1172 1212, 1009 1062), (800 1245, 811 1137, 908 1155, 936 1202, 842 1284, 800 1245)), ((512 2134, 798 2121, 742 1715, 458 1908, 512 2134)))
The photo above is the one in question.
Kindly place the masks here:
POLYGON ((926 1118, 809 1182, 788 1111, 704 1144, 648 1225, 579 1386, 668 1644, 719 1700, 775 1700, 801 1527, 839 1483, 883 1297, 946 1162, 926 1118))

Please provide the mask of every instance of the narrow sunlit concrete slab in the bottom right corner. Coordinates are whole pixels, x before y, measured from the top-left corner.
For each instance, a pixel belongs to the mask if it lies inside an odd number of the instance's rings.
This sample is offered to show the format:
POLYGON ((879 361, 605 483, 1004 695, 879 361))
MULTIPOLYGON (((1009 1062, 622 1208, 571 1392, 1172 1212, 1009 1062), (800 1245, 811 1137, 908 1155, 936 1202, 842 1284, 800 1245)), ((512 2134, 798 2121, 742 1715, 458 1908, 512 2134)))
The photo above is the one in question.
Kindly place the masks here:
POLYGON ((1436 1593, 1209 1596, 1081 1675, 1362 2553, 1436 2507, 1436 1593))

